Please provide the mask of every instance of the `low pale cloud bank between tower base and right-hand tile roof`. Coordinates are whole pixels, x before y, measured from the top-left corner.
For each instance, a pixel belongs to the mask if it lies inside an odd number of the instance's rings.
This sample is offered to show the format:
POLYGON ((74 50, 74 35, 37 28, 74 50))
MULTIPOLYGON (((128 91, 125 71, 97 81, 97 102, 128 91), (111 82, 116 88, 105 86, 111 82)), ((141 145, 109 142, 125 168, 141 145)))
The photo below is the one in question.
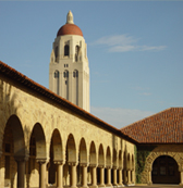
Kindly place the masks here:
POLYGON ((109 123, 117 128, 122 128, 155 113, 150 111, 141 111, 135 109, 131 110, 91 106, 91 114, 96 115, 98 118, 109 123))

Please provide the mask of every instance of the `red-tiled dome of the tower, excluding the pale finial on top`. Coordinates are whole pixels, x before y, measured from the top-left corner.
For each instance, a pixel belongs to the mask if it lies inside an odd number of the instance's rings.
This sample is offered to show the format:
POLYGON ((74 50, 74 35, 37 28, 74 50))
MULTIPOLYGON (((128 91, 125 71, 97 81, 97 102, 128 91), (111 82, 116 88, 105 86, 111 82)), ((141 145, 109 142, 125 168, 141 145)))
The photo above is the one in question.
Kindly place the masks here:
POLYGON ((81 28, 78 26, 76 26, 75 24, 65 24, 63 25, 58 34, 57 34, 57 37, 58 36, 63 36, 63 35, 80 35, 83 37, 83 33, 81 30, 81 28))

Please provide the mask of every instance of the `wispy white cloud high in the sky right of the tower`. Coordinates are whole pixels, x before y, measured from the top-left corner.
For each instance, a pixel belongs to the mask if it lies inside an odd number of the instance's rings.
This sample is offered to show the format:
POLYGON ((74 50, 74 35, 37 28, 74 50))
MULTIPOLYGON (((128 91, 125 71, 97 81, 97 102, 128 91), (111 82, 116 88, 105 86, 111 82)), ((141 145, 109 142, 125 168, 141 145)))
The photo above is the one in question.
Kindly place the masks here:
POLYGON ((93 45, 107 46, 110 52, 126 52, 126 51, 159 51, 164 50, 166 46, 139 46, 139 39, 124 35, 106 36, 96 40, 93 45))

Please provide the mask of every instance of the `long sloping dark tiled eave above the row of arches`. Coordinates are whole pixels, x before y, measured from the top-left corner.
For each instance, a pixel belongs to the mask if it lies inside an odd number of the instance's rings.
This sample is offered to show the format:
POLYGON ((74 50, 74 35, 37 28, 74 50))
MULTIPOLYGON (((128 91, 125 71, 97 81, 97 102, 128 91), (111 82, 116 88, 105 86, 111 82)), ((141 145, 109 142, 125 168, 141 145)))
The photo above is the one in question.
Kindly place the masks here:
POLYGON ((9 66, 8 64, 0 61, 0 72, 11 78, 13 82, 21 84, 23 87, 30 89, 32 91, 36 91, 37 93, 52 100, 59 105, 62 105, 69 110, 74 111, 76 114, 84 116, 85 118, 94 122, 97 126, 108 129, 113 134, 123 137, 124 139, 137 143, 137 141, 130 136, 123 134, 120 129, 113 127, 112 125, 101 121, 100 118, 96 117, 95 115, 90 114, 89 112, 83 110, 82 108, 73 104, 72 102, 68 101, 66 99, 58 96, 57 93, 52 92, 51 90, 47 89, 46 87, 39 85, 38 83, 34 82, 33 79, 28 78, 27 76, 23 75, 22 73, 17 72, 13 67, 9 66))

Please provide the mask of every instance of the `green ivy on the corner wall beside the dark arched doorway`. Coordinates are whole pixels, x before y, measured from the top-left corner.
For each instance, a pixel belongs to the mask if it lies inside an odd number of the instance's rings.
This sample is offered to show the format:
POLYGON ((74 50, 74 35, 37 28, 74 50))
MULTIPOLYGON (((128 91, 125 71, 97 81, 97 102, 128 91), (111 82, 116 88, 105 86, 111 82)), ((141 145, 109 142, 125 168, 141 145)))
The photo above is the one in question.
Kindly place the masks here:
POLYGON ((135 146, 135 171, 136 171, 136 183, 141 184, 141 174, 144 171, 146 159, 156 146, 135 146))

